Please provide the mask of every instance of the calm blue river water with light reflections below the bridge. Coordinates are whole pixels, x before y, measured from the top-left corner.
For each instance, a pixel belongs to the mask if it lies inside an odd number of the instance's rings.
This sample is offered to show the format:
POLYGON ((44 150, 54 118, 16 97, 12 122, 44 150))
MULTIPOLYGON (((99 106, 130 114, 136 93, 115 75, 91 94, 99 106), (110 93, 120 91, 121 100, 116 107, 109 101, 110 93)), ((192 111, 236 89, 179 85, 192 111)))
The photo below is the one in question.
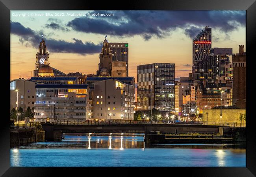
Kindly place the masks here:
POLYGON ((10 149, 11 167, 245 167, 235 144, 154 144, 143 134, 65 135, 10 149))

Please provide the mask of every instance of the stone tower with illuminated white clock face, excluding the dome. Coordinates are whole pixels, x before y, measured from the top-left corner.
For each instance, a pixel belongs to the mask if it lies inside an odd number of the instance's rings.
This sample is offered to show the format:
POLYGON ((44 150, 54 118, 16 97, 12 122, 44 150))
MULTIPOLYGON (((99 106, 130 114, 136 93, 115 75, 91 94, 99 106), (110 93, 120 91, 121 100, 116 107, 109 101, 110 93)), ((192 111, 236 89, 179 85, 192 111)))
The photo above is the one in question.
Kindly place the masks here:
POLYGON ((45 65, 45 61, 48 63, 49 53, 46 50, 44 36, 42 35, 42 39, 40 40, 40 45, 38 47, 38 52, 36 54, 36 63, 34 70, 34 77, 37 77, 38 70, 41 66, 45 65))

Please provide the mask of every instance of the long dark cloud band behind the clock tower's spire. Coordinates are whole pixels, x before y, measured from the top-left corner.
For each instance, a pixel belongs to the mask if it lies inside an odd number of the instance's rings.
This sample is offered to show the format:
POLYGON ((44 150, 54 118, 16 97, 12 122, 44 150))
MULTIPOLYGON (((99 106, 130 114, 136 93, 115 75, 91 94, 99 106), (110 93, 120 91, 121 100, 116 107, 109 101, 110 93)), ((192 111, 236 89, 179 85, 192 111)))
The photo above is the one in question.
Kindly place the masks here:
MULTIPOLYGON (((24 27, 19 22, 12 22, 11 21, 11 33, 18 35, 19 41, 22 44, 28 46, 34 46, 35 48, 38 47, 41 34, 43 31, 33 31, 30 28, 24 27)), ((73 38, 74 42, 67 42, 64 40, 56 40, 56 39, 47 39, 44 37, 46 41, 46 46, 48 50, 51 52, 59 52, 59 53, 78 53, 81 55, 85 54, 93 54, 99 53, 102 44, 94 44, 93 42, 82 42, 80 39, 73 38)))

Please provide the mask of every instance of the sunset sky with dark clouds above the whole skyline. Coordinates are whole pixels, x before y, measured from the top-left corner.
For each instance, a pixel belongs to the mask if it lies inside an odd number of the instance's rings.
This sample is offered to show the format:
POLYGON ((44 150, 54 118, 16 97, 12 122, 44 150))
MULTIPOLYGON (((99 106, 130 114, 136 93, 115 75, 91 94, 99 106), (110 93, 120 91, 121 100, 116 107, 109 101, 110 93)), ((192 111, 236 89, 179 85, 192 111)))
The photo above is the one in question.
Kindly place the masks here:
POLYGON ((11 80, 19 72, 31 77, 42 34, 50 66, 66 74, 96 74, 105 35, 109 42, 128 42, 129 75, 136 82, 137 65, 149 63, 175 63, 175 77, 187 76, 192 40, 204 26, 212 28, 212 47, 237 53, 246 44, 245 11, 11 11, 10 19, 11 80))

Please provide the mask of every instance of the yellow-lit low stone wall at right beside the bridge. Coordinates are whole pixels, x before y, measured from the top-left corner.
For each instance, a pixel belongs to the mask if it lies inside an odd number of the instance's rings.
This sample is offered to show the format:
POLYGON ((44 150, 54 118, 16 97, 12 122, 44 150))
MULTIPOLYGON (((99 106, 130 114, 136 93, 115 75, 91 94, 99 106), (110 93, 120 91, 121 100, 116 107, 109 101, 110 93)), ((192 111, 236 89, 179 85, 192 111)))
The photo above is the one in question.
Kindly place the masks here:
MULTIPOLYGON (((220 120, 221 109, 204 109, 203 110, 203 121, 207 120, 208 113, 208 122, 236 122, 237 125, 240 125, 239 117, 240 114, 244 114, 246 109, 222 109, 222 119, 220 120)), ((245 120, 242 123, 246 123, 245 120)))

